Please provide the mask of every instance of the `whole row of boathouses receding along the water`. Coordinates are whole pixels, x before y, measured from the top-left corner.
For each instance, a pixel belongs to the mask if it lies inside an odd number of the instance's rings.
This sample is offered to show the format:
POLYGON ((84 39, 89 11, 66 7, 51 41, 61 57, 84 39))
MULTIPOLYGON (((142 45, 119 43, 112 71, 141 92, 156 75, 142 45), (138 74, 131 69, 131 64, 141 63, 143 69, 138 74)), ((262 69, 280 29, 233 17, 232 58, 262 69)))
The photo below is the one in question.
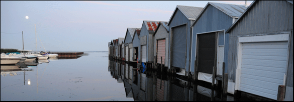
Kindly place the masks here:
POLYGON ((292 0, 177 5, 168 21, 144 20, 109 42, 110 57, 144 63, 146 70, 162 64, 165 71, 227 85, 231 94, 274 100, 293 99, 292 53, 292 0))

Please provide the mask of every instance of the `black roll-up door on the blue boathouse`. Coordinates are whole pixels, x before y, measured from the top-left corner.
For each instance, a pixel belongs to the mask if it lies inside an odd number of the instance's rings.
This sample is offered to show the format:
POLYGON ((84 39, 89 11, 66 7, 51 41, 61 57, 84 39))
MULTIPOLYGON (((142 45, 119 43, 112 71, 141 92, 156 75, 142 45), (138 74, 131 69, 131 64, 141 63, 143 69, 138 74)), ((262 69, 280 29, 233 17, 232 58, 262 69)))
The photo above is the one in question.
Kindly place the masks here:
POLYGON ((212 74, 215 66, 216 32, 198 34, 198 38, 198 69, 212 74))

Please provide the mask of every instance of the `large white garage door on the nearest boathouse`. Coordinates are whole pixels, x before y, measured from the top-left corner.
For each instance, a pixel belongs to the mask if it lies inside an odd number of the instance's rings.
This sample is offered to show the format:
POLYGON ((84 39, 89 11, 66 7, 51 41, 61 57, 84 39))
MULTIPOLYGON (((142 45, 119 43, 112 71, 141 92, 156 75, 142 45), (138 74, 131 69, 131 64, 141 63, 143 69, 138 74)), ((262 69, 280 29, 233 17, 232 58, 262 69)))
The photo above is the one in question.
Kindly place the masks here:
POLYGON ((240 90, 277 98, 287 67, 287 41, 242 44, 240 90))

